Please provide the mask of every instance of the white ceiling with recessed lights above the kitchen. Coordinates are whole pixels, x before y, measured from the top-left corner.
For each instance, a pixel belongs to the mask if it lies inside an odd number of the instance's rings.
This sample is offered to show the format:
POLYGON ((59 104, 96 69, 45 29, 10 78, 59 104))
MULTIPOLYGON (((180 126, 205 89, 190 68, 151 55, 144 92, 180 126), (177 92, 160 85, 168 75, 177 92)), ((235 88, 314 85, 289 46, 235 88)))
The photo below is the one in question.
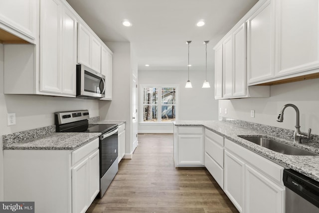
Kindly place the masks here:
POLYGON ((258 0, 67 0, 103 41, 129 41, 139 70, 213 69, 215 44, 258 0), (129 19, 133 25, 122 25, 129 19), (196 26, 198 20, 206 24, 196 26), (146 67, 145 64, 150 64, 146 67))

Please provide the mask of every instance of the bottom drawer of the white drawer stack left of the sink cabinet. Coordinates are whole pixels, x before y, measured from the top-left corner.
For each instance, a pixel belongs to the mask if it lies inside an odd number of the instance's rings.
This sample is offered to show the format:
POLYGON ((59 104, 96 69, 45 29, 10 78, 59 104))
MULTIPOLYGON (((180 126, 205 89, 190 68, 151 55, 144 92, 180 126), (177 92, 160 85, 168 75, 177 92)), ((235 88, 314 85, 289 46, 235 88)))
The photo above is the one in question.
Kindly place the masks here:
POLYGON ((205 167, 220 188, 224 189, 224 170, 207 153, 205 153, 205 167))

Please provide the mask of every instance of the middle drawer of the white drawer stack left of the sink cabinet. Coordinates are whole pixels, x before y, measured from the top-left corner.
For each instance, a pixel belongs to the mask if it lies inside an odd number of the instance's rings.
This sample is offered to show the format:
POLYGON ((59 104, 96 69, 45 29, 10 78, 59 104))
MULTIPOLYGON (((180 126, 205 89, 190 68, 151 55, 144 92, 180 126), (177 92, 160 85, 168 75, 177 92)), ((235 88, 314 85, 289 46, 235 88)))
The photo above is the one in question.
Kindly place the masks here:
POLYGON ((224 147, 220 146, 211 138, 205 136, 205 152, 224 168, 224 147))

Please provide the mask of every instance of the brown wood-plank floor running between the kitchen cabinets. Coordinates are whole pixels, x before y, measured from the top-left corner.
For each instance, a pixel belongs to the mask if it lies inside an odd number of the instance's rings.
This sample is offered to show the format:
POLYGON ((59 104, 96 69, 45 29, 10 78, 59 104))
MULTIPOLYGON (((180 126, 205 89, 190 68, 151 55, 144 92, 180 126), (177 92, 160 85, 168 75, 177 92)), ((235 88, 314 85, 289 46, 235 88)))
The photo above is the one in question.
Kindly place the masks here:
POLYGON ((176 169, 172 134, 139 134, 102 199, 87 213, 238 213, 204 168, 176 169))

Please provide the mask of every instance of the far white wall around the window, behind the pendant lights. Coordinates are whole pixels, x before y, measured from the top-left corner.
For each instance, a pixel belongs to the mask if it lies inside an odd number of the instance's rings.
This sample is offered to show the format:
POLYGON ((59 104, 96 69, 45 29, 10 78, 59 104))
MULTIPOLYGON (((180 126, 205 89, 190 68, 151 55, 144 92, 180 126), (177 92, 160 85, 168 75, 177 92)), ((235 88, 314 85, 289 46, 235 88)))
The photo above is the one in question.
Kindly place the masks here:
MULTIPOLYGON (((210 88, 201 88, 205 80, 205 71, 190 71, 189 80, 193 88, 185 88, 188 73, 184 71, 151 71, 139 70, 139 109, 141 105, 141 84, 177 84, 178 91, 178 120, 218 120, 218 101, 214 99, 214 73, 207 71, 207 81, 210 88)), ((140 110, 139 110, 140 111, 140 110)), ((170 125, 141 124, 139 116, 139 133, 167 133, 173 131, 170 125)))

